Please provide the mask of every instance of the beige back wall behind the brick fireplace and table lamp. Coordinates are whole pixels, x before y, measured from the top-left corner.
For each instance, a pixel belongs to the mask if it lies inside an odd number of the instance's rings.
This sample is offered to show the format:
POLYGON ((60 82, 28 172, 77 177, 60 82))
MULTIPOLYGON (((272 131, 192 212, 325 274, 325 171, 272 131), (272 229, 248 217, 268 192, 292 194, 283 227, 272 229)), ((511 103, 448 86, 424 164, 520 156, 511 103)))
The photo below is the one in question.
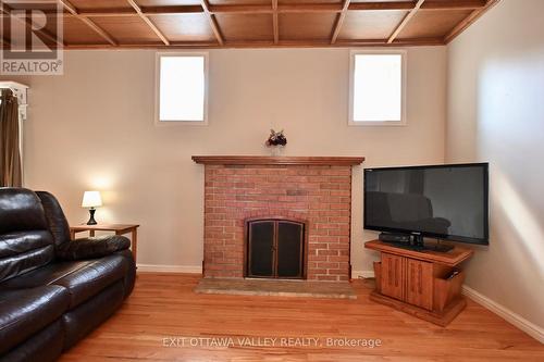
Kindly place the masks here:
MULTIPOLYGON (((85 222, 83 191, 102 190, 101 222, 141 224, 138 262, 201 265, 203 167, 193 154, 268 154, 284 128, 288 155, 364 155, 367 166, 444 161, 445 47, 408 50, 408 125, 349 127, 348 49, 210 51, 209 126, 153 124, 153 51, 69 51, 63 76, 30 85, 26 186, 58 196, 85 222)), ((362 247, 362 167, 355 170, 353 265, 362 247)), ((367 238, 372 234, 367 235, 367 238)))

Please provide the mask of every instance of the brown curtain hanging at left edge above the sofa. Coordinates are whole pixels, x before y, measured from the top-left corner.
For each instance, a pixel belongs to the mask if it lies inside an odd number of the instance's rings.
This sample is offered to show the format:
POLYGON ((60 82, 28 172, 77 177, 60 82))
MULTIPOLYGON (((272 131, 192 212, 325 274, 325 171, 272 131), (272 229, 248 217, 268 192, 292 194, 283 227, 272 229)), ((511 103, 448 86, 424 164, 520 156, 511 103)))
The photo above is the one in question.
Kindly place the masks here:
POLYGON ((21 187, 18 102, 11 89, 2 89, 0 100, 0 186, 21 187))

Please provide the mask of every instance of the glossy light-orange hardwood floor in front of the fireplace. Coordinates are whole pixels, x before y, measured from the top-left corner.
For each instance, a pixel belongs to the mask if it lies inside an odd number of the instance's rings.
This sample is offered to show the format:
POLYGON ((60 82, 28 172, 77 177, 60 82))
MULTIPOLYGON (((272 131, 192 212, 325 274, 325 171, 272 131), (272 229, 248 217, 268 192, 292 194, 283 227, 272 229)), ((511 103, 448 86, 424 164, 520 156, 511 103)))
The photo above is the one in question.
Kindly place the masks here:
POLYGON ((125 305, 61 361, 544 361, 544 345, 470 300, 442 328, 370 301, 371 280, 354 282, 356 300, 197 295, 198 280, 139 274, 125 305))

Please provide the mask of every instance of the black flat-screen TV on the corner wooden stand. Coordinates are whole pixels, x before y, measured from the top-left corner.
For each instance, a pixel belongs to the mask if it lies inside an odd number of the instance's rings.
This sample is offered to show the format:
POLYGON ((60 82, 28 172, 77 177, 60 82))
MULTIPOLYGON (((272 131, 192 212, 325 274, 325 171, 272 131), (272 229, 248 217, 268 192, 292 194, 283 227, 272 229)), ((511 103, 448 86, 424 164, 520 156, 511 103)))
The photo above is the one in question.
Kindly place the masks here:
POLYGON ((487 163, 364 170, 364 228, 489 244, 487 163))

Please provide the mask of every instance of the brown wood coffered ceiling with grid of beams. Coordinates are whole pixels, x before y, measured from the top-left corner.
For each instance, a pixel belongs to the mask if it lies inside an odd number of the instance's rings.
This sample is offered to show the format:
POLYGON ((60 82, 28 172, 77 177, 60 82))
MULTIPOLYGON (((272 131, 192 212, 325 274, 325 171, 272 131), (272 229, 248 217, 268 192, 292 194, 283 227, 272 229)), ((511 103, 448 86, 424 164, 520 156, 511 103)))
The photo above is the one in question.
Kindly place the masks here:
MULTIPOLYGON (((445 45, 498 1, 59 0, 69 49, 445 45)), ((32 2, 48 17, 60 16, 54 0, 32 2)), ((25 3, 0 1, 1 16, 25 3)), ((39 36, 61 43, 53 26, 39 36)))

